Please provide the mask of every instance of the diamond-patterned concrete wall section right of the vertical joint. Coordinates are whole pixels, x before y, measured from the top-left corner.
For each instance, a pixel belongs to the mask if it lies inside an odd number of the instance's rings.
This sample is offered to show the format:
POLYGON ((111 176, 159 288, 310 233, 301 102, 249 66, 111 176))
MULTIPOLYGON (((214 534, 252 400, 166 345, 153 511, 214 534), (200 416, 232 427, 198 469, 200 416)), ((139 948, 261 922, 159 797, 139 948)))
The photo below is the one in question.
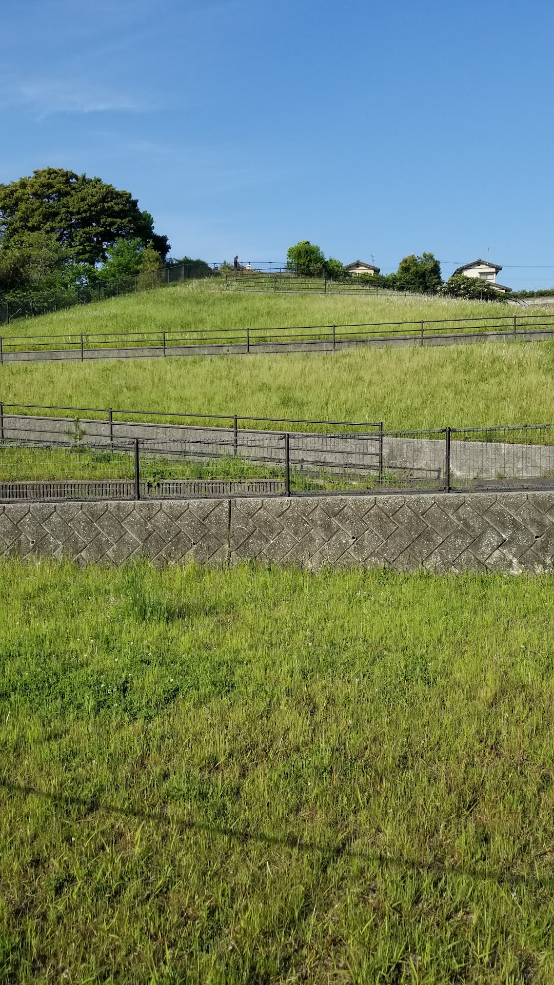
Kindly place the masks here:
POLYGON ((554 493, 234 499, 231 561, 250 558, 538 572, 553 566, 554 493))

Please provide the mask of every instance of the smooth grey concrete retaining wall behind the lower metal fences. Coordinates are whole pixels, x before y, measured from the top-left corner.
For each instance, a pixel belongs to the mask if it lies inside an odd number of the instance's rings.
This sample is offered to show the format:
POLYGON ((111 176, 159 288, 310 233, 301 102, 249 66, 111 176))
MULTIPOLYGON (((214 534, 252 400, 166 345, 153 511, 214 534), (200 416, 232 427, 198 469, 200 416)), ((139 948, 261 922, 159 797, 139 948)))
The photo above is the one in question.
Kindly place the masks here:
MULTIPOLYGON (((83 444, 108 445, 109 424, 106 421, 82 419, 85 429, 83 444)), ((70 418, 35 417, 27 415, 3 415, 4 437, 24 438, 28 441, 62 441, 72 444, 70 431, 74 422, 70 418)), ((545 435, 548 428, 545 429, 545 435)), ((425 432, 423 432, 425 433, 425 432)), ((441 488, 445 475, 445 436, 404 437, 401 434, 384 434, 382 465, 389 470, 407 470, 425 484, 426 488, 441 488)), ((502 434, 502 432, 500 432, 502 434)), ((521 431, 524 435, 524 431, 521 431)), ((532 440, 531 435, 530 440, 532 440)), ((171 444, 178 442, 179 451, 190 458, 206 460, 213 456, 233 456, 235 432, 232 427, 196 427, 186 425, 133 423, 114 421, 114 440, 126 441, 138 437, 145 442, 171 444)), ((237 431, 237 454, 255 463, 284 461, 283 432, 250 430, 240 427, 237 431)), ((170 447, 167 449, 170 451, 170 447)), ((176 445, 174 447, 176 450, 176 445)), ((310 431, 291 434, 291 464, 298 469, 319 468, 379 469, 379 437, 364 435, 355 430, 340 434, 310 431)), ((450 442, 450 478, 452 485, 479 485, 493 480, 548 480, 554 483, 554 444, 521 444, 511 441, 465 441, 452 434, 450 442)), ((490 485, 490 482, 488 483, 490 485)))

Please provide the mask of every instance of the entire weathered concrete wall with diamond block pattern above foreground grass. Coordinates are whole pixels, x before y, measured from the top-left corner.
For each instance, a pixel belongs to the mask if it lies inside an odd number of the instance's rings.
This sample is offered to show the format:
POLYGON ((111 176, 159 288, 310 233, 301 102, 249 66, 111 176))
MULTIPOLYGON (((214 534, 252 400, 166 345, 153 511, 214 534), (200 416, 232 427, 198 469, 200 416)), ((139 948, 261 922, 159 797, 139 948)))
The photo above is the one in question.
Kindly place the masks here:
POLYGON ((554 492, 6 503, 0 552, 538 572, 554 566, 554 492))

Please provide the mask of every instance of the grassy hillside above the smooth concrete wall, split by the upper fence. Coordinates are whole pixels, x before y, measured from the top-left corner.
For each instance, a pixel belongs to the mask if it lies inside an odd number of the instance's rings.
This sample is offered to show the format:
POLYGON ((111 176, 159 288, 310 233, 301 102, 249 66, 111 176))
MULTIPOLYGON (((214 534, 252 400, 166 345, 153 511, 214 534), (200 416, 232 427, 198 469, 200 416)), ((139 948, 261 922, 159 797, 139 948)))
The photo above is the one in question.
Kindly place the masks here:
MULTIPOLYGON (((420 296, 279 296, 203 283, 16 321, 12 335, 506 317, 502 304, 420 296)), ((5 364, 5 403, 383 421, 387 427, 549 422, 550 343, 289 355, 5 364)))

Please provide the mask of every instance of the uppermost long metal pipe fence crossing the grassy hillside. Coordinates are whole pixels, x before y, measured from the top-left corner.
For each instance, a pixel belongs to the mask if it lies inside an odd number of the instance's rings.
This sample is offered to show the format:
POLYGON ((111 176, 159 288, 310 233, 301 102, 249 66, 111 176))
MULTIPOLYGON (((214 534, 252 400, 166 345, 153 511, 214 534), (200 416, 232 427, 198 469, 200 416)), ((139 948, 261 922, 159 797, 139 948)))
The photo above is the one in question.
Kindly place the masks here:
POLYGON ((278 352, 335 352, 368 343, 505 341, 546 339, 554 335, 554 312, 493 315, 481 318, 203 329, 150 329, 135 332, 82 332, 63 335, 0 335, 0 363, 24 360, 78 360, 254 355, 278 352))

